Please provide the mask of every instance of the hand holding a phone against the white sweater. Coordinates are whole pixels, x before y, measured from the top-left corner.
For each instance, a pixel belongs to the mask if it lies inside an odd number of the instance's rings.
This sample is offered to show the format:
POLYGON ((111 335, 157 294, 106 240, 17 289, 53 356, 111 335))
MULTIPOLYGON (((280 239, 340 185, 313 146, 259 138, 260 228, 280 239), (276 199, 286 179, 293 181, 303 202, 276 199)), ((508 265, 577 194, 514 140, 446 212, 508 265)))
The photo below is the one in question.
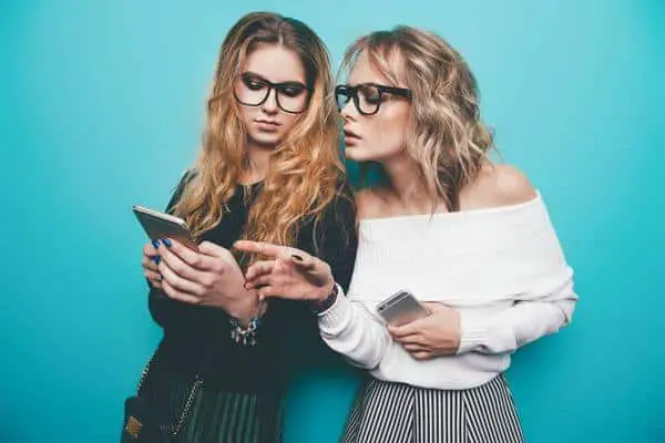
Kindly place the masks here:
POLYGON ((460 347, 460 315, 442 303, 424 303, 432 312, 388 331, 416 360, 454 354, 460 347))

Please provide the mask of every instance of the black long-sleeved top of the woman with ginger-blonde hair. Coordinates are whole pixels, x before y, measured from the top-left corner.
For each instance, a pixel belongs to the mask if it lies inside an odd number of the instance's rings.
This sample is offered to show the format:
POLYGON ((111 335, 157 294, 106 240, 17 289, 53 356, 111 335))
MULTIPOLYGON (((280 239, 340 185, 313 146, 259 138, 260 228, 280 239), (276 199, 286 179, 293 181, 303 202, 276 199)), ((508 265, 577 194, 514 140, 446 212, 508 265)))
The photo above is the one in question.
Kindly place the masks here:
MULTIPOLYGON (((168 208, 177 202, 185 179, 168 208)), ((260 193, 260 184, 249 187, 250 196, 260 193)), ((344 192, 350 196, 346 185, 344 192)), ((228 202, 228 213, 201 239, 231 248, 244 231, 252 202, 238 186, 228 202)), ((345 291, 358 246, 355 216, 351 200, 339 196, 325 209, 316 227, 314 220, 304 220, 297 235, 297 247, 328 262, 345 291)), ((227 392, 280 393, 295 371, 341 360, 320 339, 317 317, 305 301, 270 298, 257 330, 256 346, 235 343, 228 316, 218 308, 172 300, 153 288, 150 311, 164 329, 155 361, 183 380, 191 380, 205 365, 205 384, 227 392)))

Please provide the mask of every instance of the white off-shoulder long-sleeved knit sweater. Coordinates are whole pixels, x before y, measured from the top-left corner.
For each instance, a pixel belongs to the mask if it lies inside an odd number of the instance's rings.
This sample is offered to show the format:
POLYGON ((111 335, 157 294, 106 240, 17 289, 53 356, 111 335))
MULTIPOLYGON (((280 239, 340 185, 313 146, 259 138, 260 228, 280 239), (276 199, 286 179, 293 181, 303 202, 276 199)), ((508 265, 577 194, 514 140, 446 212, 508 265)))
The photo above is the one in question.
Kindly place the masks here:
POLYGON ((319 316, 321 337, 377 379, 474 388, 571 321, 572 275, 540 193, 514 206, 364 219, 348 295, 319 316), (376 306, 400 289, 460 312, 457 354, 418 361, 392 340, 376 306))

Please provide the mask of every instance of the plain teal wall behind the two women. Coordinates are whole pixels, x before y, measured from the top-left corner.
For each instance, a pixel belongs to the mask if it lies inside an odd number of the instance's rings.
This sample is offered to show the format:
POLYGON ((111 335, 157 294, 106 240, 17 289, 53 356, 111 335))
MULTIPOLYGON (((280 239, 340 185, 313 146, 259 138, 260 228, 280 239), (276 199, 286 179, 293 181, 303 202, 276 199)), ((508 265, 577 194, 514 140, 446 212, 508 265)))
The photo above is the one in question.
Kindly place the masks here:
MULTIPOLYGON (((143 234, 194 158, 241 14, 309 23, 336 63, 408 23, 468 59, 507 162, 543 193, 580 302, 509 378, 530 442, 665 441, 665 3, 0 1, 0 441, 116 441, 158 339, 143 234)), ((286 442, 334 442, 356 381, 300 380, 286 442)))

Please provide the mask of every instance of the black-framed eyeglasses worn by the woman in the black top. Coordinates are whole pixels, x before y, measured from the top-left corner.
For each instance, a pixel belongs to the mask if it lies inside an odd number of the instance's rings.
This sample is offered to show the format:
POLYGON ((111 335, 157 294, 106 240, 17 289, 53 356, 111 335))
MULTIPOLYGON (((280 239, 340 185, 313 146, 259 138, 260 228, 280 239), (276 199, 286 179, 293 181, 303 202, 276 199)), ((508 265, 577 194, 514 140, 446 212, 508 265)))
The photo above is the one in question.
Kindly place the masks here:
POLYGON ((309 105, 311 87, 300 82, 273 83, 253 72, 241 74, 234 96, 245 106, 260 106, 268 100, 270 91, 275 90, 277 106, 289 114, 300 114, 309 105))

